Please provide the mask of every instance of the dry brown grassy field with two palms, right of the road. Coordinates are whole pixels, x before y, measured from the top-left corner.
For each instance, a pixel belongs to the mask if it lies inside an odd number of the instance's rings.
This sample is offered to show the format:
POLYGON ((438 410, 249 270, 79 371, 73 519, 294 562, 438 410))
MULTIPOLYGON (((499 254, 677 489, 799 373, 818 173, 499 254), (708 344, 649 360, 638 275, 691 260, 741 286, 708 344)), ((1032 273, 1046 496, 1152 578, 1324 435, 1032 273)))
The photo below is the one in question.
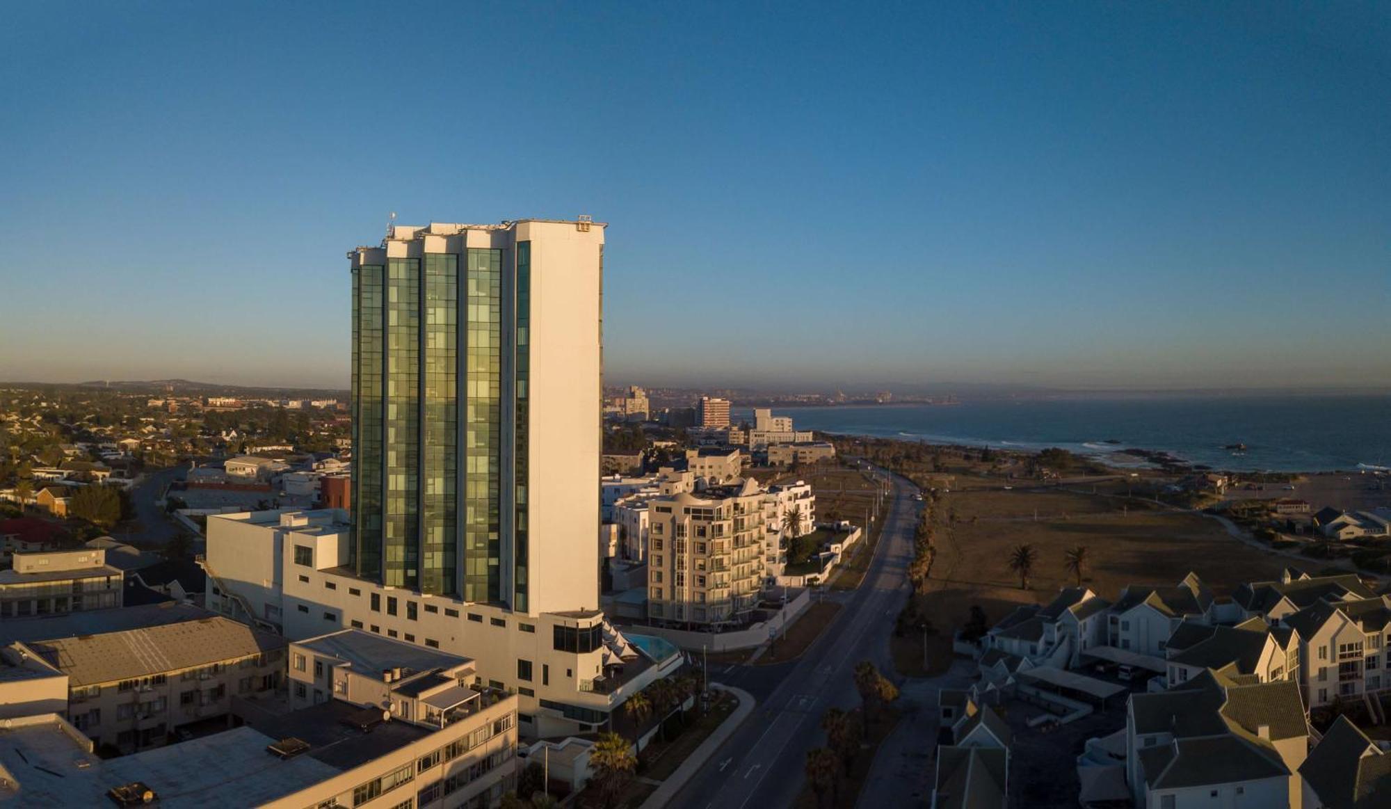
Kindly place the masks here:
POLYGON ((1017 605, 1047 602, 1060 587, 1074 585, 1064 553, 1075 545, 1085 545, 1091 559, 1084 584, 1113 600, 1127 584, 1174 585, 1188 571, 1225 595, 1244 581, 1273 578, 1289 563, 1232 539, 1220 524, 1196 514, 1057 489, 954 488, 940 498, 933 520, 938 559, 928 592, 914 599, 936 635, 928 639, 926 670, 921 634, 890 641, 894 664, 906 676, 946 670, 951 632, 972 605, 995 623, 1017 605), (1021 544, 1038 553, 1028 589, 1020 588, 1007 564, 1021 544))

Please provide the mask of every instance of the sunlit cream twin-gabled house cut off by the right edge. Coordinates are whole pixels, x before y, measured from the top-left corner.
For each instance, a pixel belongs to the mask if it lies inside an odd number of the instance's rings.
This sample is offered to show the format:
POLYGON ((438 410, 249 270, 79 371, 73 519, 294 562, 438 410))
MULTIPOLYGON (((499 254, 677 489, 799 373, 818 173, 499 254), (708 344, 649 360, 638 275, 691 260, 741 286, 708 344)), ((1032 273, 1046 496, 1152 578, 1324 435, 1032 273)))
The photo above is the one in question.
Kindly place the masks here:
POLYGON ((1309 708, 1391 688, 1391 596, 1316 603, 1281 619, 1299 637, 1299 680, 1309 708))

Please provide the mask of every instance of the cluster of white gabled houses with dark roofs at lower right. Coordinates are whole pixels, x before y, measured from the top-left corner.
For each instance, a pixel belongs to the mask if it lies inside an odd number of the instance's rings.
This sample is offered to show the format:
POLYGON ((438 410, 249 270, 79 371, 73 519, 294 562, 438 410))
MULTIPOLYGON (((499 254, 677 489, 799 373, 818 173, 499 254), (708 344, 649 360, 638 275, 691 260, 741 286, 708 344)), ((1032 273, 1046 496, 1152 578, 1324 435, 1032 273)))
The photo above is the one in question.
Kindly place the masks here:
POLYGON ((1116 602, 1070 587, 990 627, 979 681, 950 703, 943 692, 942 710, 958 717, 963 701, 1008 696, 1067 723, 1135 687, 1124 731, 1089 739, 1078 758, 1082 805, 1380 806, 1391 758, 1345 719, 1319 741, 1309 713, 1384 716, 1388 624, 1391 596, 1353 574, 1285 570, 1230 599, 1195 574, 1127 587, 1116 602), (1093 676, 1103 670, 1116 674, 1093 676))

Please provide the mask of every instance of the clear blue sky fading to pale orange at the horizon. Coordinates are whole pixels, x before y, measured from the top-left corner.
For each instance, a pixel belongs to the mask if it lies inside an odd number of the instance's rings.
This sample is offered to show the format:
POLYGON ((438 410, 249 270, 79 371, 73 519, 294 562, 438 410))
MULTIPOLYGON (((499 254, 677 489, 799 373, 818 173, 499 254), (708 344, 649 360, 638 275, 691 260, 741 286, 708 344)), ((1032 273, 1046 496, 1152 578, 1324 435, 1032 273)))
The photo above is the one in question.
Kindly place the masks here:
POLYGON ((1385 3, 25 3, 0 378, 346 385, 399 221, 611 224, 613 382, 1391 382, 1385 3))

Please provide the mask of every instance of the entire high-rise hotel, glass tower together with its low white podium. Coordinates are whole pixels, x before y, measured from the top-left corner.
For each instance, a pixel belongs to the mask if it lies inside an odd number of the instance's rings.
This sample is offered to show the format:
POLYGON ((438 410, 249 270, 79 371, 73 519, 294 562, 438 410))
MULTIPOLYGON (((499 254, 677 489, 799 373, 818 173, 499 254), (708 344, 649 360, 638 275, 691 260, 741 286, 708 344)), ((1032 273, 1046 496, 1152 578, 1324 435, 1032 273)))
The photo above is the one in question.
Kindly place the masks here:
POLYGON ((351 517, 210 518, 210 609, 467 656, 527 735, 602 726, 680 663, 598 609, 604 225, 394 225, 348 257, 351 517))

